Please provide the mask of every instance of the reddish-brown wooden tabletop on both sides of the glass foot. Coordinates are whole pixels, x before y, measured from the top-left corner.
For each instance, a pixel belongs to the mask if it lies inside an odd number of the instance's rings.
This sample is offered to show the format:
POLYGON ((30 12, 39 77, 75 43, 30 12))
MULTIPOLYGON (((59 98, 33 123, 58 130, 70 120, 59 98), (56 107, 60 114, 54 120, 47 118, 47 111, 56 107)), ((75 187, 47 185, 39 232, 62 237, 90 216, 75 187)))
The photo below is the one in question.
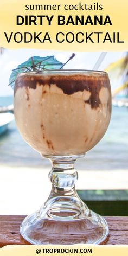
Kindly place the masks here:
MULTIPOLYGON (((0 247, 4 245, 29 244, 20 235, 20 224, 25 216, 1 215, 0 216, 0 247)), ((110 235, 107 245, 128 245, 128 217, 105 217, 110 235)))

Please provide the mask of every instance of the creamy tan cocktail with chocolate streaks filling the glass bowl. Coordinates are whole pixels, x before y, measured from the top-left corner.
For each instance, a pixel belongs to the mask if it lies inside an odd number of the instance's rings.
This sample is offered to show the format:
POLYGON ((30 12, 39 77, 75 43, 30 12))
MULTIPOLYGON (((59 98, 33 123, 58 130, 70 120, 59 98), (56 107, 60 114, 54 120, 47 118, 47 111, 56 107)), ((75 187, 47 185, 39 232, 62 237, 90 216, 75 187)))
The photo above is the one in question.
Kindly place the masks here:
POLYGON ((103 137, 111 115, 106 73, 44 71, 18 76, 15 119, 42 155, 81 155, 103 137))

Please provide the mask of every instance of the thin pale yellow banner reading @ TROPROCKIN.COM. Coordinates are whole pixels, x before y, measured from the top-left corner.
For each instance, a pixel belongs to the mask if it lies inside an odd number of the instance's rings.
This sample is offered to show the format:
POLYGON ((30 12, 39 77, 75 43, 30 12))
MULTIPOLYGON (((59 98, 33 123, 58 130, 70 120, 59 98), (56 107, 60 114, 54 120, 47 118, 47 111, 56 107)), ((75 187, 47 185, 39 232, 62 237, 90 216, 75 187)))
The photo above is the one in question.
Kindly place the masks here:
POLYGON ((127 256, 128 246, 108 246, 108 245, 73 245, 73 246, 59 246, 59 245, 18 245, 5 246, 0 249, 1 256, 127 256))

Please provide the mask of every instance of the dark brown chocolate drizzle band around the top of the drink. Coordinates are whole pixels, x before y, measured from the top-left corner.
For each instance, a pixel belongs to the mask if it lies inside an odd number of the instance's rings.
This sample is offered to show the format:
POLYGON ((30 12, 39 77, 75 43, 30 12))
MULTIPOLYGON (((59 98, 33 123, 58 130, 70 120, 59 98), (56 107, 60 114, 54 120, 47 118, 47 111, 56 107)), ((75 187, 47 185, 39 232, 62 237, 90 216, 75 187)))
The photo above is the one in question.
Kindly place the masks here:
MULTIPOLYGON (((93 72, 92 72, 93 73, 93 72)), ((106 73, 96 73, 86 75, 83 73, 71 73, 70 75, 63 74, 23 74, 18 76, 15 83, 15 91, 19 87, 27 87, 36 89, 41 85, 52 86, 55 84, 58 88, 62 89, 63 93, 71 95, 75 92, 89 91, 91 96, 85 101, 91 104, 92 108, 97 108, 100 105, 99 92, 102 87, 107 87, 110 91, 110 82, 106 73)), ((44 91, 45 92, 45 91, 44 91)), ((111 93, 110 93, 111 95, 111 93)))

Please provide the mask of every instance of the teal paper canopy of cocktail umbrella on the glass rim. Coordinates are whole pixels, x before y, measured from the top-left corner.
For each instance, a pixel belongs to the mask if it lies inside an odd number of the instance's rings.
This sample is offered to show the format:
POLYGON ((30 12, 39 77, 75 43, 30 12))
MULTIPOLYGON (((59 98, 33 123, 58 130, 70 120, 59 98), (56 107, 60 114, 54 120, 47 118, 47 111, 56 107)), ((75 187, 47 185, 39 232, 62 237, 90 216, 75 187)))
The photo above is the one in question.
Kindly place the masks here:
POLYGON ((12 70, 9 79, 9 85, 14 89, 15 79, 19 73, 37 71, 40 72, 45 69, 61 69, 63 63, 56 60, 54 56, 47 57, 30 57, 27 61, 23 62, 16 69, 12 70))

